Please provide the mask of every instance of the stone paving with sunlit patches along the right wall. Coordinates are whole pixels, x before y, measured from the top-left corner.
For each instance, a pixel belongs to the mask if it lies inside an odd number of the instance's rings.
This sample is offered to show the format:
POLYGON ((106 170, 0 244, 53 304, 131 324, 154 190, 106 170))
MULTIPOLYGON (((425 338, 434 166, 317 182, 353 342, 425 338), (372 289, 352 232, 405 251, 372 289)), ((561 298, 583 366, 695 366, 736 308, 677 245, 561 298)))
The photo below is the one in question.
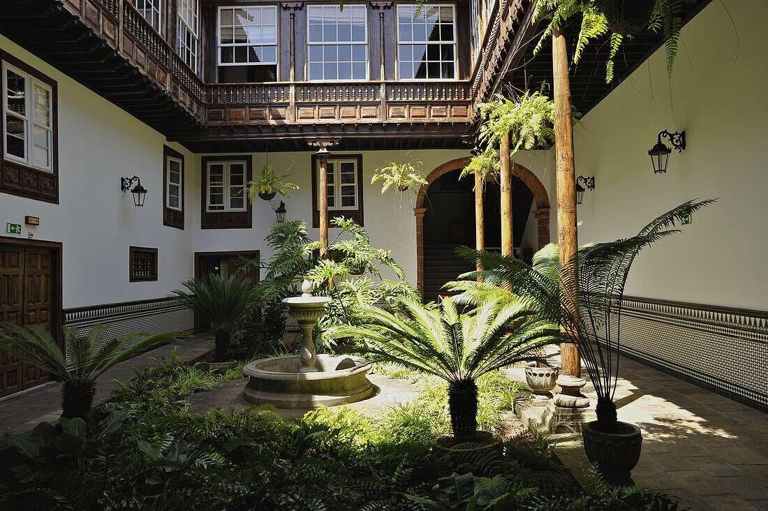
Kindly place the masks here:
MULTIPOLYGON (((768 414, 623 357, 619 374, 618 418, 643 431, 632 471, 637 486, 677 496, 696 511, 768 509, 768 414)), ((522 370, 508 376, 525 381, 522 370)), ((591 383, 584 393, 594 406, 591 383)), ((549 440, 580 479, 587 461, 581 434, 549 440)))

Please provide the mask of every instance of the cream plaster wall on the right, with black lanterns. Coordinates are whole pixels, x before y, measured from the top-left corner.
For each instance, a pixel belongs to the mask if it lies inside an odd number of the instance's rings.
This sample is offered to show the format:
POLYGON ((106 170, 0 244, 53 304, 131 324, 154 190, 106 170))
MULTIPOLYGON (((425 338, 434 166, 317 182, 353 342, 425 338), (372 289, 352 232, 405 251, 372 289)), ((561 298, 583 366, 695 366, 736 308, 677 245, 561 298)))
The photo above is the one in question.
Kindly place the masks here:
POLYGON ((683 29, 671 80, 661 48, 574 134, 576 174, 596 181, 578 209, 580 243, 635 234, 687 199, 720 197, 637 258, 627 294, 768 310, 766 18, 764 0, 711 2, 683 29), (647 150, 664 129, 685 130, 687 149, 654 174, 647 150))

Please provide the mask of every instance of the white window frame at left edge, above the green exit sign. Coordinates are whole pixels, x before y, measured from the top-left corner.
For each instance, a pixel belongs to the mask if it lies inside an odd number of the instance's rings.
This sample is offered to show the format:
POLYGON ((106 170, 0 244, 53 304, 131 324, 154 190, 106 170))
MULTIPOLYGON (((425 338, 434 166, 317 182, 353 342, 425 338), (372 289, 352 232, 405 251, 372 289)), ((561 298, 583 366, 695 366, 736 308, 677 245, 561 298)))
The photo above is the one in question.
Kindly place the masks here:
POLYGON ((50 172, 51 174, 54 172, 55 169, 55 154, 54 154, 54 147, 53 147, 53 141, 54 141, 54 115, 55 115, 55 98, 53 95, 53 88, 51 85, 48 85, 45 83, 45 81, 41 81, 38 78, 35 78, 35 76, 30 75, 26 71, 22 71, 22 69, 17 68, 15 65, 9 64, 6 61, 2 61, 2 66, 0 66, 0 72, 2 72, 2 79, 0 79, 0 84, 2 84, 2 88, 0 88, 0 92, 2 92, 2 147, 3 147, 3 158, 8 158, 8 160, 15 161, 20 164, 24 164, 31 168, 37 168, 41 171, 50 172), (15 111, 11 111, 8 109, 8 70, 13 71, 16 75, 21 76, 24 78, 24 87, 25 87, 25 115, 18 114, 15 111), (39 122, 35 121, 35 104, 34 104, 34 98, 35 98, 35 86, 45 89, 45 91, 48 91, 48 97, 50 98, 50 104, 48 105, 49 111, 48 111, 48 122, 49 124, 46 126, 45 124, 40 124, 39 122), (19 158, 15 154, 9 154, 8 153, 8 144, 6 141, 7 136, 7 115, 11 114, 14 117, 22 118, 24 120, 24 158, 19 158), (48 134, 48 165, 39 165, 35 164, 35 127, 38 128, 44 128, 45 131, 48 134))

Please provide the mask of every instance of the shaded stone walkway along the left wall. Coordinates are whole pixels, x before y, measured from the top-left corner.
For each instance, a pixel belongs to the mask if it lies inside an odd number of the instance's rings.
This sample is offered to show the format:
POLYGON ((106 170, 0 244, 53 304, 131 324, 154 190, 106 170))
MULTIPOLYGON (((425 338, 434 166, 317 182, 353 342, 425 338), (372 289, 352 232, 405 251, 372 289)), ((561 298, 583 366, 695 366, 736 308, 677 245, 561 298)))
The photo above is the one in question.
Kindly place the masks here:
MULTIPOLYGON (((214 338, 207 336, 189 337, 179 343, 168 343, 149 350, 131 360, 118 363, 96 380, 94 406, 109 399, 112 389, 117 385, 114 380, 131 380, 134 367, 141 370, 154 359, 170 357, 174 347, 178 346, 177 355, 182 362, 203 360, 214 350, 214 338)), ((3 433, 17 435, 29 433, 38 423, 55 423, 61 416, 61 383, 49 382, 26 392, 14 394, 0 401, 0 449, 5 446, 3 433)))

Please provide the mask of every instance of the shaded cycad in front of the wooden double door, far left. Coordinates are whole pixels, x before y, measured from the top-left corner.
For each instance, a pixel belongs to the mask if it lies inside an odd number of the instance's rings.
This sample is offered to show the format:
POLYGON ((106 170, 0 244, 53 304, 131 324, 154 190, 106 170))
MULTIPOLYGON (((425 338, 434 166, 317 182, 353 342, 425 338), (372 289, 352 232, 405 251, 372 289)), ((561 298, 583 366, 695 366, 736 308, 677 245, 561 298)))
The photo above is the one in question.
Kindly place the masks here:
POLYGON ((45 327, 19 327, 3 323, 0 324, 0 350, 48 371, 63 381, 61 416, 68 419, 84 417, 91 410, 94 383, 104 371, 154 344, 171 342, 189 335, 184 332, 157 335, 129 333, 104 340, 108 328, 94 325, 87 335, 83 335, 77 328, 64 327, 65 356, 45 327))

